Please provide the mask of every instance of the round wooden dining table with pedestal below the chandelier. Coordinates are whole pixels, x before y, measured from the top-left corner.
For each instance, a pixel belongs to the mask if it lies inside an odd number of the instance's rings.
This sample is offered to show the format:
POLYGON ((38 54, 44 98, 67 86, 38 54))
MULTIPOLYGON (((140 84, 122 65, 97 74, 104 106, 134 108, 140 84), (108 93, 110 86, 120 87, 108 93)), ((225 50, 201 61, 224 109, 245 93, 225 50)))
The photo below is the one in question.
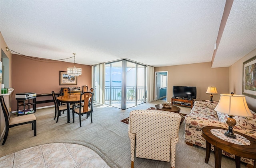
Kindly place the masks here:
MULTIPOLYGON (((70 123, 70 104, 79 103, 80 102, 80 94, 70 94, 66 96, 59 96, 57 100, 66 103, 68 109, 68 123, 70 123)), ((82 101, 84 101, 84 97, 82 97, 82 101)))

